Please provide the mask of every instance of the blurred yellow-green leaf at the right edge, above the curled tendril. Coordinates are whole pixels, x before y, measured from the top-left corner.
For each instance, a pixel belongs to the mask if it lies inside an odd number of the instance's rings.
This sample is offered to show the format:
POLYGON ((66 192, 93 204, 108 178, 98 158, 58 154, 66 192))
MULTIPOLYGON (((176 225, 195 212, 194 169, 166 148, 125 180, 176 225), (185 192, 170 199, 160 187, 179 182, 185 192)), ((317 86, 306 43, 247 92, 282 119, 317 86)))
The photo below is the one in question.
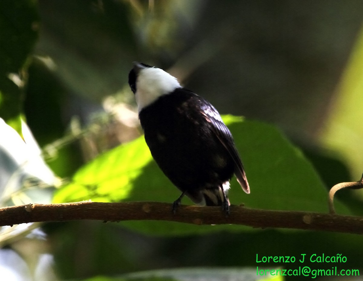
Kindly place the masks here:
MULTIPOLYGON (((363 28, 339 82, 329 118, 320 140, 324 147, 338 152, 353 176, 363 172, 363 28)), ((358 191, 362 194, 362 191, 358 191)))

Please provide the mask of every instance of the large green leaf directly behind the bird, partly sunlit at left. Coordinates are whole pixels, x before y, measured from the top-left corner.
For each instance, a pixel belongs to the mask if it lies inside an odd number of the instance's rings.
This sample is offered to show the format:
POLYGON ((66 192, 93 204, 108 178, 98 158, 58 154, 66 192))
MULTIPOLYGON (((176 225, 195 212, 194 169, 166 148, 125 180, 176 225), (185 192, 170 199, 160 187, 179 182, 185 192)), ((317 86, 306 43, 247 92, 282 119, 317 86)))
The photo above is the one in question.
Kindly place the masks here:
MULTIPOLYGON (((240 117, 224 116, 244 162, 251 194, 231 180, 231 204, 275 210, 327 212, 327 190, 313 166, 276 127, 240 117)), ((54 196, 55 202, 163 201, 172 203, 180 191, 160 171, 143 136, 100 155, 76 172, 73 182, 54 196)), ((183 204, 192 204, 185 198, 183 204)), ((336 202, 339 213, 348 213, 336 202)), ((240 225, 189 225, 165 221, 124 221, 122 225, 148 234, 180 235, 240 225)))

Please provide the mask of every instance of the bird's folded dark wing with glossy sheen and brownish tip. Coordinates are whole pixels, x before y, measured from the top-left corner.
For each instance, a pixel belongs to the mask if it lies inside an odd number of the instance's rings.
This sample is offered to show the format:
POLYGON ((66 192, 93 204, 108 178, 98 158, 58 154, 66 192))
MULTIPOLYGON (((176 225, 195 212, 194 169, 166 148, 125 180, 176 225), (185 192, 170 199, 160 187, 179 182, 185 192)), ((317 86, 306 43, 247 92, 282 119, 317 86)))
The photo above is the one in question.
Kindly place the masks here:
POLYGON ((212 129, 216 134, 216 137, 232 156, 234 161, 234 174, 236 175, 237 181, 241 185, 242 189, 249 194, 250 188, 246 178, 246 173, 244 171, 240 155, 238 154, 234 144, 231 131, 229 131, 227 126, 224 124, 221 115, 219 115, 218 111, 213 105, 211 105, 211 103, 203 100, 203 102, 201 102, 201 110, 207 122, 212 124, 212 129))

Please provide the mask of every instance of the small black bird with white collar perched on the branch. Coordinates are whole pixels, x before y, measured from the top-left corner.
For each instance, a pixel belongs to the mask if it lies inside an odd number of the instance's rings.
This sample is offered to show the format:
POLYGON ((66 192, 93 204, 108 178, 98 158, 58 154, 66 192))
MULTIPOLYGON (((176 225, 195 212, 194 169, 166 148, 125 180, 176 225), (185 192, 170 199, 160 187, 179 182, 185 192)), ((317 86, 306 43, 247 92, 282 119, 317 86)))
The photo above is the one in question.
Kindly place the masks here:
POLYGON ((194 203, 222 206, 229 213, 229 180, 236 175, 249 194, 243 165, 231 132, 218 111, 204 98, 180 86, 160 68, 134 62, 129 85, 152 157, 194 203))

